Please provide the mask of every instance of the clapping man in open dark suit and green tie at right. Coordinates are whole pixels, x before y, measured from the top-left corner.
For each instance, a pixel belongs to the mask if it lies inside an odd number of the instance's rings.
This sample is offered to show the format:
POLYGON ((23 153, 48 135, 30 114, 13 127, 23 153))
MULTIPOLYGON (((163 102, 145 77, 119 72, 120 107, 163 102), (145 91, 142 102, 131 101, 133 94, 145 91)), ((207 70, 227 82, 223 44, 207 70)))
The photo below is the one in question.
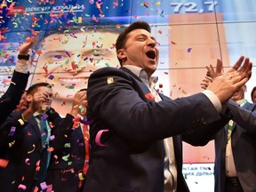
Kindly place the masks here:
MULTIPOLYGON (((208 68, 211 78, 204 79, 203 88, 212 78, 221 73, 208 68)), ((237 89, 228 108, 232 118, 214 136, 215 141, 215 191, 216 192, 254 192, 256 189, 256 104, 244 99, 246 85, 237 89)))

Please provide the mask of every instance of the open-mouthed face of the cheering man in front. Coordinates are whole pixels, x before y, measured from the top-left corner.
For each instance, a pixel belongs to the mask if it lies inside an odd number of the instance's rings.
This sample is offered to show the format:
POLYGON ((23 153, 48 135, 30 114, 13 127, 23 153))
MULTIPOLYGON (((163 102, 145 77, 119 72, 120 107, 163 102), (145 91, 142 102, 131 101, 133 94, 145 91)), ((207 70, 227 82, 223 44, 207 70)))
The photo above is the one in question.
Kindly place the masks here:
POLYGON ((151 76, 157 68, 159 50, 156 39, 145 29, 134 29, 126 37, 124 48, 117 51, 123 65, 143 68, 151 76))

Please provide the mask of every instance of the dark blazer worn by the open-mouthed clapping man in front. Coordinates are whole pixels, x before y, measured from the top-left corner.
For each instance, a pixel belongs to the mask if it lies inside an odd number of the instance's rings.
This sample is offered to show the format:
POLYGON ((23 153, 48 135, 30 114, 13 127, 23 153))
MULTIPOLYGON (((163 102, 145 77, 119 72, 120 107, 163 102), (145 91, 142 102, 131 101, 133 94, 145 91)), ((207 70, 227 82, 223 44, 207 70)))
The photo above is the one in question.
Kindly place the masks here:
POLYGON ((100 68, 90 76, 87 116, 92 120, 92 148, 84 192, 164 191, 163 140, 171 136, 177 189, 188 191, 179 135, 204 128, 220 115, 204 93, 179 100, 163 96, 159 102, 150 100, 148 93, 146 84, 126 68, 100 68))

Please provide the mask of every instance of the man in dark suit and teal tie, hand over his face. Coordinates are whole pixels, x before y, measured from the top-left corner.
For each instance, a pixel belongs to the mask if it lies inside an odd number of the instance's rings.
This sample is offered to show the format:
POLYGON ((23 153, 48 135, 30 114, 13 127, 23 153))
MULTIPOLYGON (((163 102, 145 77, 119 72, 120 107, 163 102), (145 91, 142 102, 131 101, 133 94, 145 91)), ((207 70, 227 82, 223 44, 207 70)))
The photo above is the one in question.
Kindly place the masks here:
POLYGON ((9 164, 14 167, 15 182, 7 184, 14 185, 13 191, 32 191, 44 181, 50 155, 50 123, 60 120, 59 114, 51 108, 50 84, 30 86, 26 100, 28 108, 12 112, 0 127, 1 138, 8 148, 9 164))

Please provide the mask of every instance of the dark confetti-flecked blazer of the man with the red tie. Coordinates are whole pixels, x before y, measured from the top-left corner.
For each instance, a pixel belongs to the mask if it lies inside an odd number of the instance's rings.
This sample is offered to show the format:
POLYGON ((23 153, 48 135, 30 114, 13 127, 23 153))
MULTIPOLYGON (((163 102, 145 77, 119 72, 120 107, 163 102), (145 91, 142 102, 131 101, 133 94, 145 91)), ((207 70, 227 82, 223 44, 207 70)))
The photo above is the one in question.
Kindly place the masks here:
POLYGON ((79 190, 78 173, 84 166, 84 134, 81 127, 72 129, 74 116, 67 115, 61 124, 55 125, 50 142, 52 151, 46 183, 56 192, 79 190))

